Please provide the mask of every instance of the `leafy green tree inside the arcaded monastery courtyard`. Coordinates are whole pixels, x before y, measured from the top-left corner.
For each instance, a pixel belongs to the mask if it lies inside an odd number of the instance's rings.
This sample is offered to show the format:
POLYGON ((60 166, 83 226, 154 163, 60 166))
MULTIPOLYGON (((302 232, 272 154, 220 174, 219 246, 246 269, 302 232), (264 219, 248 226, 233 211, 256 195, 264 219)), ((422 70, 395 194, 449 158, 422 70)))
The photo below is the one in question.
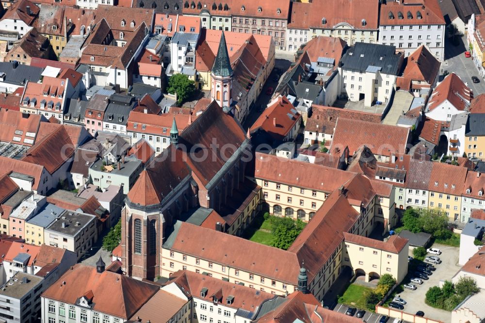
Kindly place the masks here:
POLYGON ((305 223, 301 220, 294 221, 291 218, 285 217, 274 218, 271 226, 273 234, 272 245, 276 248, 287 250, 303 230, 305 223))

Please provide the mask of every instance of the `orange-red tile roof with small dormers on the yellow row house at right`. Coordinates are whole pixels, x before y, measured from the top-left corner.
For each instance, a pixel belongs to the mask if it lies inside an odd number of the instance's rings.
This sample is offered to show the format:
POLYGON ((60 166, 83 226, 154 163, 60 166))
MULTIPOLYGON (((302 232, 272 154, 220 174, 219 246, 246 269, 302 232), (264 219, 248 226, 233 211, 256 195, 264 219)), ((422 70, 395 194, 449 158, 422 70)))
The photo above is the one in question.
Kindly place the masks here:
POLYGON ((461 196, 468 170, 462 166, 433 162, 428 190, 461 196))

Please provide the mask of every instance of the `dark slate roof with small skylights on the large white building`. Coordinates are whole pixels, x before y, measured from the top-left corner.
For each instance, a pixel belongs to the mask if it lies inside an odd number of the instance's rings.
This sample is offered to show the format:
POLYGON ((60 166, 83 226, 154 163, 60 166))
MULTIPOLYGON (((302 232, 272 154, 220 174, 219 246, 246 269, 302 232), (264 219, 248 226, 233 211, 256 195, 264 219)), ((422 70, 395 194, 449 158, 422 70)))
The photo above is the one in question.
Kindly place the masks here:
POLYGON ((400 56, 396 54, 395 46, 356 43, 347 50, 340 62, 341 67, 345 69, 366 71, 369 66, 375 66, 381 67, 381 73, 397 75, 400 56))

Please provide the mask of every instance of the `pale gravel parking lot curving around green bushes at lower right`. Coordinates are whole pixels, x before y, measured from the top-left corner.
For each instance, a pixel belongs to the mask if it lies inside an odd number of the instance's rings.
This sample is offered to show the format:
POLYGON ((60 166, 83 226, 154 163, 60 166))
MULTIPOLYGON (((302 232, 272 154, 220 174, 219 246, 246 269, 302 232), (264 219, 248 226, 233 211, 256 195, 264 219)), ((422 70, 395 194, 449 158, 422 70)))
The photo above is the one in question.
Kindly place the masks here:
MULTIPOLYGON (((458 248, 434 244, 434 248, 441 250, 441 255, 438 257, 441 259, 439 265, 435 264, 436 270, 432 275, 429 276, 428 280, 424 280, 422 285, 416 285, 417 289, 415 291, 404 290, 400 293, 401 298, 403 298, 407 304, 404 306, 404 312, 414 314, 417 311, 423 311, 424 316, 430 319, 439 320, 442 322, 451 322, 451 312, 430 307, 424 303, 426 297, 426 292, 433 286, 439 286, 440 280, 451 280, 453 275, 460 269, 458 265, 458 248)), ((409 255, 412 257, 412 252, 409 255)), ((427 255, 432 256, 432 255, 427 255)), ((410 272, 412 275, 412 272, 410 272)), ((403 283, 408 283, 404 281, 403 283)))

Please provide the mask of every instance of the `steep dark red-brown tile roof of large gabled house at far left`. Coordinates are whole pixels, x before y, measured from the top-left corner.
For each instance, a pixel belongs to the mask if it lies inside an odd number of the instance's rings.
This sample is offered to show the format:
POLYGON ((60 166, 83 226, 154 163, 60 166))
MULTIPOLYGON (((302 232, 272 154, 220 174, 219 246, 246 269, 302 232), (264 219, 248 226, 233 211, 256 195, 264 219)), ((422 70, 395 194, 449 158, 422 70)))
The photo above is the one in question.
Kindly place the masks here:
POLYGON ((53 174, 74 155, 74 145, 64 127, 60 127, 49 136, 37 140, 22 161, 44 165, 53 174))

